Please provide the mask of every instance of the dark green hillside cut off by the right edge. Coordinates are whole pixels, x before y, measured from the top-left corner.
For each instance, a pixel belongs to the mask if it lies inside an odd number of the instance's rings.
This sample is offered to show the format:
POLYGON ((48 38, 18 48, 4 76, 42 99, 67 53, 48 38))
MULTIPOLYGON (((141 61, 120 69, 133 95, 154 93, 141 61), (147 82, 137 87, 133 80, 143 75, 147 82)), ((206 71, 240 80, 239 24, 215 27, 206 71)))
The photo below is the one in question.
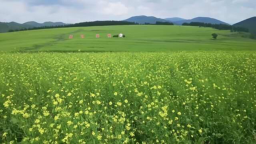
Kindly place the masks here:
POLYGON ((248 28, 249 32, 256 35, 256 16, 233 24, 233 26, 248 28))

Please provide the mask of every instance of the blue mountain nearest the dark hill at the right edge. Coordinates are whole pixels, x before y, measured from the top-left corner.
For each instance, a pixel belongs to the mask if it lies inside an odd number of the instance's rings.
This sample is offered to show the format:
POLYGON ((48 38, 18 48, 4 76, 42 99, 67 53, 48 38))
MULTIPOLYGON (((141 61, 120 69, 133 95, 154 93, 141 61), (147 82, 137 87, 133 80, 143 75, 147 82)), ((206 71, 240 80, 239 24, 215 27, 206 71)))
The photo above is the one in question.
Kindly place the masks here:
POLYGON ((193 18, 191 20, 180 20, 180 21, 176 21, 175 23, 178 25, 182 25, 183 23, 190 23, 190 22, 204 22, 204 23, 210 23, 210 24, 227 24, 226 22, 222 22, 220 20, 214 19, 214 18, 208 18, 208 17, 197 17, 197 18, 193 18))

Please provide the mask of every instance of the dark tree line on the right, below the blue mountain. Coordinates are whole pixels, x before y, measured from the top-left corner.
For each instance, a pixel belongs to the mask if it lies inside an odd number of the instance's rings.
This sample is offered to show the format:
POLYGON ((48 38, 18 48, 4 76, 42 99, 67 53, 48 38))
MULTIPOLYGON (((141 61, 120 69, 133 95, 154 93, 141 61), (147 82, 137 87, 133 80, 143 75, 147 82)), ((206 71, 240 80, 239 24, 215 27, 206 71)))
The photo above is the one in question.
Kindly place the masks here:
POLYGON ((231 32, 249 32, 248 28, 236 27, 227 24, 210 24, 204 22, 190 22, 183 23, 182 26, 202 26, 208 28, 215 28, 217 30, 230 30, 231 32))

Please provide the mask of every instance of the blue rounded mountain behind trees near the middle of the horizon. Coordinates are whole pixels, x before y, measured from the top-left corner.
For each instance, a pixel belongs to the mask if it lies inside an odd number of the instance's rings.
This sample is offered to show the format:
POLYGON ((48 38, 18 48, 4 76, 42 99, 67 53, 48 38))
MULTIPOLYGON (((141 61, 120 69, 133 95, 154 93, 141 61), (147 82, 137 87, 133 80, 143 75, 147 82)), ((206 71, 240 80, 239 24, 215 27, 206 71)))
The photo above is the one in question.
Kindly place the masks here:
POLYGON ((169 22, 168 20, 164 20, 162 18, 156 18, 154 16, 133 16, 123 21, 135 22, 139 24, 145 24, 145 23, 156 24, 156 22, 169 22))

